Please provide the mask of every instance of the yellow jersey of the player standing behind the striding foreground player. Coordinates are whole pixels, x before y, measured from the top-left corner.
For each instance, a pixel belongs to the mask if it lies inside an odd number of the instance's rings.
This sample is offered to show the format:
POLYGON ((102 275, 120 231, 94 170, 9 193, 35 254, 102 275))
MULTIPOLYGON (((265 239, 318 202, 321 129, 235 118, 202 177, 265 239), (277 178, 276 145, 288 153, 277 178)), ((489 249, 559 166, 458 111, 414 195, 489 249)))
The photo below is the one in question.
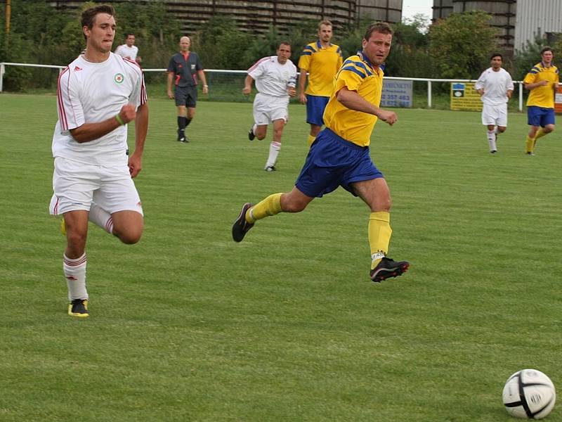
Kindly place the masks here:
POLYGON ((299 58, 299 69, 308 72, 308 87, 305 94, 330 96, 336 75, 343 58, 336 44, 322 47, 320 40, 311 42, 303 49, 299 58))

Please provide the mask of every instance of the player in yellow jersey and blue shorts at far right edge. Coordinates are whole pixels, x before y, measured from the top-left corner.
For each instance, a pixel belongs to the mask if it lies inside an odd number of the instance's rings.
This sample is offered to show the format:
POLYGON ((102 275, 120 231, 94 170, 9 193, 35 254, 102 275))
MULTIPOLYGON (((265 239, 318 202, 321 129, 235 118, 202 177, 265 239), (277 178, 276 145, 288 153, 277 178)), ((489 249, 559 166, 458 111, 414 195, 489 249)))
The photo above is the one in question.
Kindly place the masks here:
POLYGON ((560 85, 560 73, 552 64, 554 51, 549 46, 540 51, 541 62, 528 72, 523 84, 530 90, 527 98, 527 124, 530 130, 525 141, 525 153, 535 155, 535 143, 554 130, 554 91, 560 85))

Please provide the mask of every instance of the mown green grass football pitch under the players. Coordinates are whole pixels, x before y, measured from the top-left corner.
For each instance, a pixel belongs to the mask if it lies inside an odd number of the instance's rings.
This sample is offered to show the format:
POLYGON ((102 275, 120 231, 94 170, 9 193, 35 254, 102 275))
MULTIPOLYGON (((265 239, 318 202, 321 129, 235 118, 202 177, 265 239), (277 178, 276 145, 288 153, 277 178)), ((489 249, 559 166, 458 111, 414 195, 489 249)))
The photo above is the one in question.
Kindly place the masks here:
POLYGON ((303 106, 266 173, 250 103, 200 103, 184 145, 173 102, 151 101, 145 234, 128 246, 90 226, 77 320, 48 215, 55 97, 0 95, 0 421, 507 422, 511 373, 562 389, 561 134, 527 157, 511 114, 491 155, 480 113, 397 112, 372 156, 389 255, 411 267, 375 284, 369 211, 343 189, 232 241, 242 203, 292 188, 303 106))

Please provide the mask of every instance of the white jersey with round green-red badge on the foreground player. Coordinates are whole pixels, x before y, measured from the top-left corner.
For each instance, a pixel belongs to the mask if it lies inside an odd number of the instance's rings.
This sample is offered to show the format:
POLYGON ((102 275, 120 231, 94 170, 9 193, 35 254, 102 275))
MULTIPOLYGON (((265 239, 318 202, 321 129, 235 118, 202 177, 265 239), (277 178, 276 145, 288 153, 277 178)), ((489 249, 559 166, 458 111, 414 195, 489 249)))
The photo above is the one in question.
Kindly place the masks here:
POLYGON ((103 122, 125 104, 147 101, 143 72, 133 61, 110 53, 103 63, 78 56, 58 77, 58 122, 53 134, 53 157, 90 164, 126 162, 127 125, 93 141, 78 143, 70 129, 103 122))

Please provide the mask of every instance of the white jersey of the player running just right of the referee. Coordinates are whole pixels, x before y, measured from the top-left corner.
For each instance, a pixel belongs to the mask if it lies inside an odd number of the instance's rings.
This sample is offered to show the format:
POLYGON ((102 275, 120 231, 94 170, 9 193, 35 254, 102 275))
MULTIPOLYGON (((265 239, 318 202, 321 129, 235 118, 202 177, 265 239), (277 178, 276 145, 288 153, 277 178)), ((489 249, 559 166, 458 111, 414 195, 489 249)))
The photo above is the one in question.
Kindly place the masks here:
POLYGON ((296 66, 291 60, 282 65, 277 56, 258 60, 248 69, 248 75, 254 78, 261 94, 288 98, 287 88, 296 86, 296 66))

